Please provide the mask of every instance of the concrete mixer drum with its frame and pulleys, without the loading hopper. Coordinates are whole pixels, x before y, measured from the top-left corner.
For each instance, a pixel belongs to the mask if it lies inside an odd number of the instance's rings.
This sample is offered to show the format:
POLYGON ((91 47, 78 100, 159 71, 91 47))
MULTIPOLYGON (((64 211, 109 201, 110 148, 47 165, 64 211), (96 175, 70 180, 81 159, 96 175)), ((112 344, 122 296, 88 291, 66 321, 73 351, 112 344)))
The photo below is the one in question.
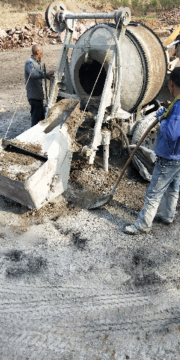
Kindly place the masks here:
MULTIPOLYGON (((79 98, 85 110, 92 110, 93 105, 97 108, 98 104, 91 144, 83 151, 92 164, 98 146, 101 143, 106 146, 110 140, 110 133, 102 131, 102 124, 123 120, 125 132, 132 134, 134 122, 139 120, 142 111, 145 113, 141 109, 146 105, 151 112, 158 109, 159 103, 154 100, 165 80, 167 55, 152 30, 131 21, 129 8, 119 8, 115 13, 75 14, 55 1, 47 8, 46 23, 54 32, 66 30, 47 114, 58 96, 79 98), (96 23, 76 44, 71 44, 76 21, 82 19, 95 22, 101 19, 105 23, 96 23)), ((152 116, 148 118, 148 122, 153 120, 152 116)), ((150 139, 150 146, 155 140, 150 139)), ((107 170, 106 150, 104 148, 104 169, 107 170)))

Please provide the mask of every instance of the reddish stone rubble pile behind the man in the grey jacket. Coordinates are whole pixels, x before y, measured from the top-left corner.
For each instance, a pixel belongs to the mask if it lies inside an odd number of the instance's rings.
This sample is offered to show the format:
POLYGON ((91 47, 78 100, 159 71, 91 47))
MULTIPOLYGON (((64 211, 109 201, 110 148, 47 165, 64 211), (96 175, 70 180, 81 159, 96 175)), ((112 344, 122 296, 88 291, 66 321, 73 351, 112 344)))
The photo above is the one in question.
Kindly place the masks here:
MULTIPOLYGON (((72 42, 77 41, 94 23, 87 21, 85 24, 76 25, 73 33, 72 42)), ((52 32, 49 27, 39 30, 35 25, 27 24, 23 27, 15 27, 9 30, 0 29, 0 50, 15 49, 19 47, 29 47, 34 44, 58 44, 63 43, 65 39, 64 32, 52 32)))

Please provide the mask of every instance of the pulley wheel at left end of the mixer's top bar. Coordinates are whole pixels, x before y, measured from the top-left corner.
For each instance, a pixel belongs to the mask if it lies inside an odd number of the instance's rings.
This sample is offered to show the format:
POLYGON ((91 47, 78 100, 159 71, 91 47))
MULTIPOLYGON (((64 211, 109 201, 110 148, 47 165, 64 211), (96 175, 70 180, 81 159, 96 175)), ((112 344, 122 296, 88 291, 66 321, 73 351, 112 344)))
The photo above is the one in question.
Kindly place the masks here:
POLYGON ((54 1, 46 9, 46 24, 53 32, 63 32, 66 29, 66 23, 60 17, 60 13, 63 11, 67 11, 67 8, 59 1, 54 1))

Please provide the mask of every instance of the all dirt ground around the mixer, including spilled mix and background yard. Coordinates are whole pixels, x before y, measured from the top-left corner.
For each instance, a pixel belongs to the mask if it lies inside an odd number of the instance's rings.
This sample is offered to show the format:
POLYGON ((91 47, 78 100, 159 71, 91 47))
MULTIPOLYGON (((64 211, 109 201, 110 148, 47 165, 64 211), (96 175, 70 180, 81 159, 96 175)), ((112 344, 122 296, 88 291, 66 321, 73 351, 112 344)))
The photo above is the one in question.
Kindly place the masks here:
MULTIPOLYGON (((162 26, 154 30, 168 36, 162 26)), ((56 70, 60 49, 44 46, 47 70, 56 70)), ((30 53, 1 53, 0 138, 30 128, 30 53)), ((172 101, 167 88, 159 99, 172 101)), ((125 234, 148 186, 129 166, 108 205, 84 206, 110 192, 127 158, 119 137, 110 143, 108 173, 101 148, 94 165, 75 153, 68 190, 40 210, 0 195, 2 360, 179 359, 179 204, 172 225, 155 219, 149 234, 125 234)))

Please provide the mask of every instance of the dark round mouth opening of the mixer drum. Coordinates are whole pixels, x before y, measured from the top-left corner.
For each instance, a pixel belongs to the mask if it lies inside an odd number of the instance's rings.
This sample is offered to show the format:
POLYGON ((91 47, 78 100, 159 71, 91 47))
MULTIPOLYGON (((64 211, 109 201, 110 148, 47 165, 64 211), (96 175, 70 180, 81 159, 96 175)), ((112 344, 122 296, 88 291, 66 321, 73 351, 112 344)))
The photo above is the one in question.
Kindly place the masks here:
MULTIPOLYGON (((101 70, 101 63, 96 60, 90 60, 87 63, 82 63, 82 66, 79 68, 79 82, 82 86, 82 89, 86 94, 90 95, 94 84, 98 77, 98 74, 101 70)), ((101 73, 96 82, 96 86, 93 91, 93 96, 101 96, 103 93, 103 87, 105 84, 106 72, 105 68, 102 68, 101 73)))

